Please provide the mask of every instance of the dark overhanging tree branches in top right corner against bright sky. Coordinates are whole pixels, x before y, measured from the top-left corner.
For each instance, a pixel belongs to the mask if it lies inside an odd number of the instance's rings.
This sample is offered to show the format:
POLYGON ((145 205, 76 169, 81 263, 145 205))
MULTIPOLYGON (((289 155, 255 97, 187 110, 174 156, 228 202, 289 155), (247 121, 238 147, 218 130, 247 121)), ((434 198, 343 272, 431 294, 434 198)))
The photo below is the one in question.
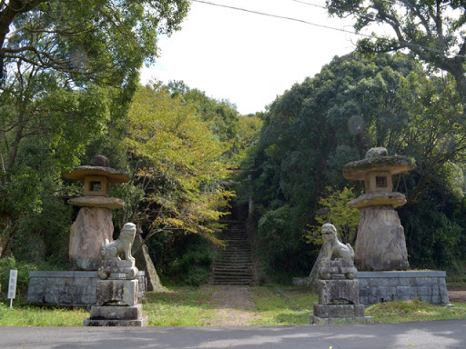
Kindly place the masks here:
POLYGON ((372 24, 389 25, 394 35, 359 41, 362 52, 381 53, 406 48, 422 61, 450 73, 462 105, 466 105, 466 6, 461 1, 328 0, 330 15, 356 17, 357 31, 372 24))

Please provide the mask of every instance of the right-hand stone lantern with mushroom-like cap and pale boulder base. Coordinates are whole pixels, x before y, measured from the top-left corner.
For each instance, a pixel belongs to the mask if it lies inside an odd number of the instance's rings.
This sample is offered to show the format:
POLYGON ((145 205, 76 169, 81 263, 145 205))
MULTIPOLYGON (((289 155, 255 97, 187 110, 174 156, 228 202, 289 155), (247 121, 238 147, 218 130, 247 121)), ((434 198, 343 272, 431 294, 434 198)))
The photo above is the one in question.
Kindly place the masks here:
POLYGON ((393 192, 391 176, 415 167, 405 156, 388 156, 385 148, 372 148, 363 160, 344 166, 346 179, 365 182, 366 194, 349 202, 349 207, 361 212, 354 258, 359 270, 409 267, 404 229, 395 211, 395 207, 406 204, 406 197, 393 192))

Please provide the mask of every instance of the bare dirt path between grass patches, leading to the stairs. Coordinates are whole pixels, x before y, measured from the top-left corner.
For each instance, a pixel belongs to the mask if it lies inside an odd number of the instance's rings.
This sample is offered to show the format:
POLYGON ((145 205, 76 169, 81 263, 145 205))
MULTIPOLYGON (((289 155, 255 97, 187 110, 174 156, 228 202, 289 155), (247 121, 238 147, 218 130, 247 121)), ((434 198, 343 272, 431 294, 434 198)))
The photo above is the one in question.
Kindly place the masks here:
POLYGON ((248 326, 256 318, 256 304, 249 286, 215 285, 211 303, 218 314, 210 321, 214 326, 248 326))

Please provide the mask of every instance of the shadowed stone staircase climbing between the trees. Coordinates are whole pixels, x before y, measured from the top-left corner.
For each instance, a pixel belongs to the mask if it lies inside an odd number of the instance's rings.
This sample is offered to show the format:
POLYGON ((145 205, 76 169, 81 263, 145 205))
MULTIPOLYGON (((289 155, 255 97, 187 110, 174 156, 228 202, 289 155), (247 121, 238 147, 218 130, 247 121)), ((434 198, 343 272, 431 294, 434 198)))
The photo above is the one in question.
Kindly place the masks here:
POLYGON ((229 221, 218 238, 226 244, 214 261, 212 284, 252 284, 251 247, 246 223, 229 221))

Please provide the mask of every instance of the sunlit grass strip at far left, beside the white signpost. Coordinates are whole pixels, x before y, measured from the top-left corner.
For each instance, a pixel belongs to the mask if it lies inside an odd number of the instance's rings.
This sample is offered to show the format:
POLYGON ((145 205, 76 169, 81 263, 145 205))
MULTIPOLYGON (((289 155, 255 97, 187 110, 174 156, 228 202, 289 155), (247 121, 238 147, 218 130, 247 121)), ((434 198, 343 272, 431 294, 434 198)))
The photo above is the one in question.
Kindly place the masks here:
POLYGON ((82 326, 87 317, 85 309, 0 303, 0 326, 82 326))

